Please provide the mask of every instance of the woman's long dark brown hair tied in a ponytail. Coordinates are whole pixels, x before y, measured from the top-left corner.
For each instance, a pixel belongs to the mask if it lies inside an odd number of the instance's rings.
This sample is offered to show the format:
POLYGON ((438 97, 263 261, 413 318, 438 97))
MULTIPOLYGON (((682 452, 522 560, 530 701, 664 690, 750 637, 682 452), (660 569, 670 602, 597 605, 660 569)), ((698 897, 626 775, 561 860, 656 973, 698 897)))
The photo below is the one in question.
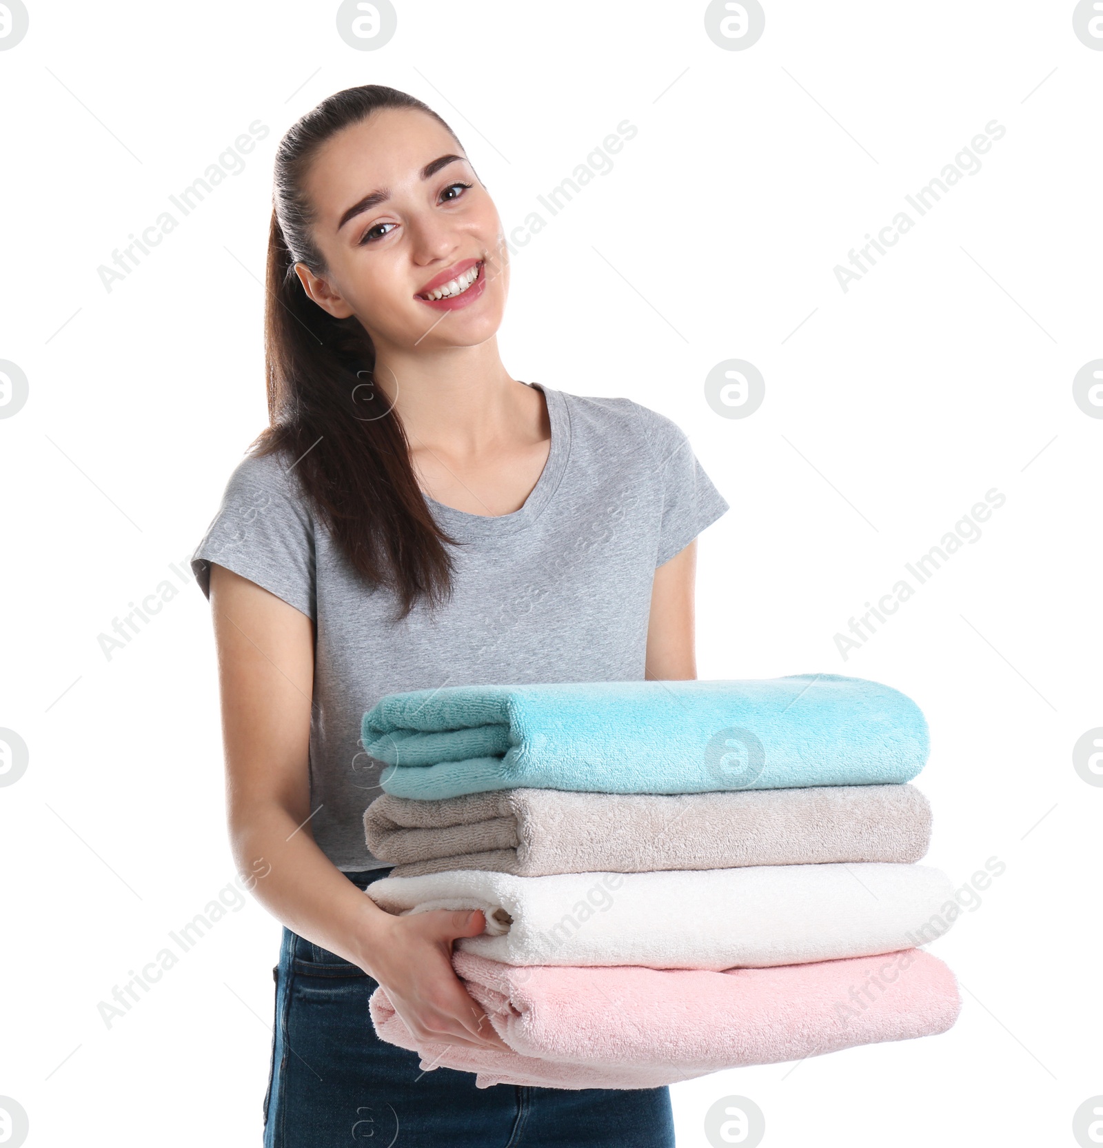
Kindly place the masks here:
MULTIPOLYGON (((281 452, 316 514, 371 585, 394 592, 405 618, 420 599, 430 607, 451 592, 458 544, 436 525, 418 486, 398 412, 374 386, 375 350, 356 316, 335 319, 295 274, 296 263, 325 276, 311 234, 304 184, 318 149, 344 127, 386 108, 414 109, 456 133, 432 108, 378 84, 323 100, 280 140, 269 232, 264 352, 269 426, 254 456, 281 452)), ((459 140, 456 140, 459 145, 459 140)))

